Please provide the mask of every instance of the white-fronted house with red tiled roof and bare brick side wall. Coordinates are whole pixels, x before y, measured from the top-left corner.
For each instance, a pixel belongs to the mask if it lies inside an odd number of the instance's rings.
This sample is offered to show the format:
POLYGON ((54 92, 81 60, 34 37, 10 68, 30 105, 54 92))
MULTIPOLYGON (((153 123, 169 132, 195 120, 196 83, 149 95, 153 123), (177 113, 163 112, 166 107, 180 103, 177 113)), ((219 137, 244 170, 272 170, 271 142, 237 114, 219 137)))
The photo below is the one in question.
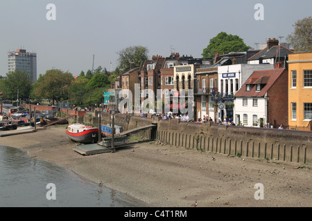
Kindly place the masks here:
POLYGON ((288 126, 288 70, 255 70, 236 92, 234 123, 273 128, 288 126))

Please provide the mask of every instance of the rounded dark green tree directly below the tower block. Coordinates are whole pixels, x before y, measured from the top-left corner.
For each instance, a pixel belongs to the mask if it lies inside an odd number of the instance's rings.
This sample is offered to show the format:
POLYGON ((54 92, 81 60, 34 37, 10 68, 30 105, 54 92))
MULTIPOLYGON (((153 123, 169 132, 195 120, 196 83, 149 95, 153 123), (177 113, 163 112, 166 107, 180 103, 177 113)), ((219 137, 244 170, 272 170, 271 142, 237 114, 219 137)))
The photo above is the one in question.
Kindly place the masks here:
POLYGON ((18 91, 18 98, 21 100, 28 99, 32 88, 30 75, 24 71, 15 70, 6 74, 6 79, 3 79, 0 90, 3 91, 3 97, 12 100, 17 99, 18 91))

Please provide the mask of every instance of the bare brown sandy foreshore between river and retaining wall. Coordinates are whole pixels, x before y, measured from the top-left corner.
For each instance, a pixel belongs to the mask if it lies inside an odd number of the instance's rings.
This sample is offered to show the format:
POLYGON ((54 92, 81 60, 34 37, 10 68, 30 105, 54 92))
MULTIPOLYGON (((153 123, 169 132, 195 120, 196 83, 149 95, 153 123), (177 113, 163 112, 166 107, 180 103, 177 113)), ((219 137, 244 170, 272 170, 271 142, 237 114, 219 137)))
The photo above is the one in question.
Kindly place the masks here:
MULTIPOLYGON (((133 140, 132 140, 133 141, 133 140)), ((153 206, 312 206, 312 166, 233 157, 193 149, 133 143, 116 153, 83 156, 64 126, 0 137, 0 145, 28 151, 153 206), (213 160, 212 157, 215 159, 213 160), (306 168, 297 169, 297 166, 306 168), (255 200, 254 185, 264 186, 255 200)))

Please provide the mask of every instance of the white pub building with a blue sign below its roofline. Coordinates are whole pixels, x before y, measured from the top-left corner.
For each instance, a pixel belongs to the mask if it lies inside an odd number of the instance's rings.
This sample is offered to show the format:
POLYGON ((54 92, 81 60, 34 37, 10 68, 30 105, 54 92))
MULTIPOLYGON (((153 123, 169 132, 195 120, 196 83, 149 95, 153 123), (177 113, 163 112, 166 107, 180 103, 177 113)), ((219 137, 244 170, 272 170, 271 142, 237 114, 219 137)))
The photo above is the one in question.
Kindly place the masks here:
MULTIPOLYGON (((269 70, 274 68, 272 64, 234 64, 218 66, 218 92, 223 97, 235 95, 254 70, 269 70)), ((232 101, 233 102, 233 101, 232 101)), ((235 108, 235 106, 234 106, 235 108)), ((224 117, 233 119, 233 110, 218 109, 218 118, 222 121, 224 117)))

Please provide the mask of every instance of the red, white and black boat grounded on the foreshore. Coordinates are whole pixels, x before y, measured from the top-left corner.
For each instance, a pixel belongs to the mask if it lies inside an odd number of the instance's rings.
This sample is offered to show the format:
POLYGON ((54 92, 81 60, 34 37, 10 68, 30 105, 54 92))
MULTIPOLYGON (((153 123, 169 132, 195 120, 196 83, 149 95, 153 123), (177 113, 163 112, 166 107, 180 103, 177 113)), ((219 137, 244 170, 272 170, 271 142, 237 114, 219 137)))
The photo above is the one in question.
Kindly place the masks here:
POLYGON ((67 136, 79 143, 92 144, 98 142, 98 128, 84 124, 70 124, 66 128, 67 136))

